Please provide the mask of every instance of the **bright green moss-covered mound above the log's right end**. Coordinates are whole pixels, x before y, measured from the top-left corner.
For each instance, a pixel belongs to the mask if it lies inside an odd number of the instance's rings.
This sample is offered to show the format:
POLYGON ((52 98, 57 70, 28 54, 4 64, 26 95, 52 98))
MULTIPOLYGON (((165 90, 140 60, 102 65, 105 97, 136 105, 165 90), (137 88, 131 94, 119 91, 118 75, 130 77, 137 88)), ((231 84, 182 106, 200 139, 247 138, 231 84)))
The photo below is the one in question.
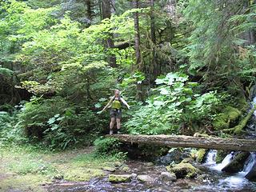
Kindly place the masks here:
POLYGON ((226 106, 222 114, 214 118, 213 126, 215 130, 228 129, 231 122, 235 122, 242 112, 232 106, 226 106))

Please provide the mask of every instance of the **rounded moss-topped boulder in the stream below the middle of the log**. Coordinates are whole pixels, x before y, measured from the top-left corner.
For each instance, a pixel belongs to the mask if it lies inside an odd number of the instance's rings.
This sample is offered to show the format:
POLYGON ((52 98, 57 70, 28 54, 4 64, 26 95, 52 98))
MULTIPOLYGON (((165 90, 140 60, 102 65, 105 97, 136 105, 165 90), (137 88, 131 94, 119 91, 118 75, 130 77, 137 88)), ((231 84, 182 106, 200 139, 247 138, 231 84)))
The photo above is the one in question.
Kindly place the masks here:
POLYGON ((177 178, 195 178, 199 172, 197 168, 190 163, 178 163, 174 166, 167 166, 170 173, 174 173, 177 178))

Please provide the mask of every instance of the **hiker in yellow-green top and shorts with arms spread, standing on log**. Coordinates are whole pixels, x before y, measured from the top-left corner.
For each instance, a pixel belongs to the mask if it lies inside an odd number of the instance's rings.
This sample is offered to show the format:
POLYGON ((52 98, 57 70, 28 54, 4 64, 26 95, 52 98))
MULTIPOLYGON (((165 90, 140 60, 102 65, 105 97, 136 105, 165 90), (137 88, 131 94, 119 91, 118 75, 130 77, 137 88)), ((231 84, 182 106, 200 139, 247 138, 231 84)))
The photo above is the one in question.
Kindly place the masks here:
POLYGON ((119 130, 121 128, 121 117, 122 117, 122 103, 127 106, 127 108, 130 110, 130 106, 128 103, 120 96, 120 90, 114 90, 114 96, 110 98, 110 102, 106 104, 106 106, 99 112, 101 114, 104 110, 109 108, 110 109, 110 134, 113 134, 113 127, 114 127, 114 122, 117 122, 117 128, 118 128, 118 134, 120 134, 119 130))

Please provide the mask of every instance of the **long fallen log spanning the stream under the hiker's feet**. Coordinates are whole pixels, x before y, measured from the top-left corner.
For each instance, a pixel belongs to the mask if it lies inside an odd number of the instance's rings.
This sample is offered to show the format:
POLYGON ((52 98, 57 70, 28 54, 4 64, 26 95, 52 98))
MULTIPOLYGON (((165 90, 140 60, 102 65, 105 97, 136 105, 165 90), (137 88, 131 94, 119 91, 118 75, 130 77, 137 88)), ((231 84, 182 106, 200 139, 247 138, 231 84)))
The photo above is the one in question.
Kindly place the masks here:
POLYGON ((120 142, 151 144, 170 147, 195 147, 212 150, 256 151, 256 140, 238 138, 203 138, 186 135, 130 135, 108 134, 108 138, 118 138, 120 142))

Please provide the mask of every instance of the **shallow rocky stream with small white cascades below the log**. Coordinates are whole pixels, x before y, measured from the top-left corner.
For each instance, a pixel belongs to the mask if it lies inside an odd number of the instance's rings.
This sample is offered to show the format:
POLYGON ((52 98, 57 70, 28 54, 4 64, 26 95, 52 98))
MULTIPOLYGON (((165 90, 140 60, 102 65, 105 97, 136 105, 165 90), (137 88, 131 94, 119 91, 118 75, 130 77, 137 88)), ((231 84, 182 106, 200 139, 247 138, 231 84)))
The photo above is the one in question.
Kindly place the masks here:
MULTIPOLYGON (((206 158, 206 163, 196 165, 202 173, 198 178, 185 179, 181 178, 175 182, 163 181, 160 178, 162 172, 166 171, 165 166, 156 166, 149 162, 141 162, 130 160, 126 164, 130 168, 130 172, 134 174, 146 174, 154 178, 154 182, 139 182, 134 178, 131 182, 111 183, 108 177, 93 178, 89 182, 65 182, 58 181, 48 187, 48 191, 54 192, 82 192, 82 191, 127 191, 127 192, 156 192, 156 191, 256 191, 256 183, 249 182, 244 175, 251 169, 256 155, 251 154, 246 166, 242 172, 238 174, 225 174, 221 172, 231 158, 228 154, 220 164, 214 161, 216 150, 210 150, 206 158)), ((114 174, 127 174, 120 170, 116 170, 114 174)))

